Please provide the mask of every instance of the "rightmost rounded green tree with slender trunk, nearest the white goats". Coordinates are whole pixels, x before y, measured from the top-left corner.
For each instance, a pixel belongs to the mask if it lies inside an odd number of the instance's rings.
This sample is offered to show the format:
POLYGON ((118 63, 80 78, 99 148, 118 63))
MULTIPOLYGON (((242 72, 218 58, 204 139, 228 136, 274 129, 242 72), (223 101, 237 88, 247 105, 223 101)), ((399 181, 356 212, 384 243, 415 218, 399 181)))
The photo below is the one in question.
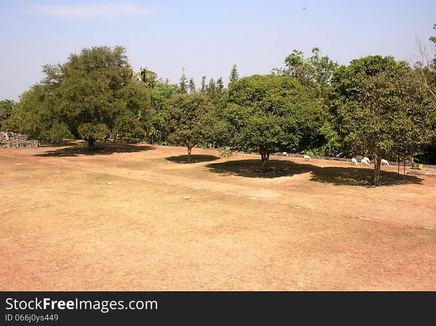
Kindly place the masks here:
POLYGON ((332 78, 331 123, 354 153, 382 158, 413 153, 434 135, 435 102, 406 62, 368 56, 341 66, 332 78))

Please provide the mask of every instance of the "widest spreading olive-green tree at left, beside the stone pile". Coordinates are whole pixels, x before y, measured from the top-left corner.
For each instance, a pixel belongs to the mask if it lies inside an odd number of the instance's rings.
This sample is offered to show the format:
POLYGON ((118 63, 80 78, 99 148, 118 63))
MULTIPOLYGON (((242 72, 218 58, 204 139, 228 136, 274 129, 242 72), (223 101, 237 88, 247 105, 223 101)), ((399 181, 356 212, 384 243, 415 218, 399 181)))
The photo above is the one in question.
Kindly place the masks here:
POLYGON ((88 141, 138 139, 149 123, 150 94, 135 80, 125 48, 84 48, 25 92, 8 124, 46 141, 71 135, 88 141))

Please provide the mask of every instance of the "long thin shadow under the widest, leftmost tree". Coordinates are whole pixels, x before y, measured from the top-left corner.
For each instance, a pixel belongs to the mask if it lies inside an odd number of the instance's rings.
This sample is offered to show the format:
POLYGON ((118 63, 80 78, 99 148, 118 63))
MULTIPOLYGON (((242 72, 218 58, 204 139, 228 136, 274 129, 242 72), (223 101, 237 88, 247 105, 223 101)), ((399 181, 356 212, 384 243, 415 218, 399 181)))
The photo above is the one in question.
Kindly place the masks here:
POLYGON ((88 143, 74 143, 72 146, 50 150, 35 156, 42 157, 65 157, 78 155, 110 155, 113 153, 134 153, 154 149, 153 146, 139 146, 128 143, 95 143, 93 148, 88 147, 88 143))

